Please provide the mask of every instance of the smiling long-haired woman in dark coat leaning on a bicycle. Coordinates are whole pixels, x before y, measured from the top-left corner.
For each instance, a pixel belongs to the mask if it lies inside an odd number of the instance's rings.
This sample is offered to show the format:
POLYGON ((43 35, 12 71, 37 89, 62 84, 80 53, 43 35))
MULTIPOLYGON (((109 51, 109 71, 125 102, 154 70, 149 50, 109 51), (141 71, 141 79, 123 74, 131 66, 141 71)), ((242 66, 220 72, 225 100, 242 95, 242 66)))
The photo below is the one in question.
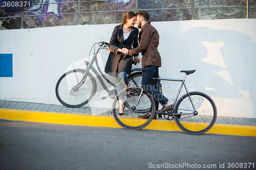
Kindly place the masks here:
MULTIPOLYGON (((106 61, 105 72, 116 78, 117 93, 125 87, 130 87, 127 79, 127 74, 131 73, 133 56, 124 55, 122 48, 131 50, 139 46, 138 34, 139 30, 134 27, 136 23, 136 14, 127 12, 123 18, 123 23, 114 28, 110 39, 109 47, 113 52, 110 52, 108 61, 106 61)), ((134 56, 138 58, 138 54, 134 56)), ((123 115, 124 103, 119 99, 119 115, 123 115)))

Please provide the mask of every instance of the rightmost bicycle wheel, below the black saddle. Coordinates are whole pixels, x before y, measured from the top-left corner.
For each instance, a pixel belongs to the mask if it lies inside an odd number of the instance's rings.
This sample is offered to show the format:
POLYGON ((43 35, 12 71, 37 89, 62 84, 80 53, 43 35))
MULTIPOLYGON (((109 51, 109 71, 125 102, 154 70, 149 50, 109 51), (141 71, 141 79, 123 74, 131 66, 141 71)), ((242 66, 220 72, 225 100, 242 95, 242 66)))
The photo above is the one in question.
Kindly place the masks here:
POLYGON ((181 96, 175 106, 175 122, 188 134, 199 135, 210 130, 217 118, 214 101, 205 93, 189 92, 181 96), (189 95, 190 99, 189 100, 189 95), (193 103, 195 110, 193 108, 193 103))

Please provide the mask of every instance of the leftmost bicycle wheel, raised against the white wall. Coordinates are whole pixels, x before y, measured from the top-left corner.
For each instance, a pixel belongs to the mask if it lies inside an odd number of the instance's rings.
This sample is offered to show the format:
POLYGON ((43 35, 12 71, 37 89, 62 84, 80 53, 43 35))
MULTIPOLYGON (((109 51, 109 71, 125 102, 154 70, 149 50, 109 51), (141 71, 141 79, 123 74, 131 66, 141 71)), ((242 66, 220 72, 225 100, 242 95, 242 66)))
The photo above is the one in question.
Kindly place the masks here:
POLYGON ((78 90, 73 88, 81 81, 85 71, 83 69, 70 70, 59 78, 55 93, 62 105, 72 108, 81 107, 86 105, 95 95, 97 84, 90 72, 78 90))

